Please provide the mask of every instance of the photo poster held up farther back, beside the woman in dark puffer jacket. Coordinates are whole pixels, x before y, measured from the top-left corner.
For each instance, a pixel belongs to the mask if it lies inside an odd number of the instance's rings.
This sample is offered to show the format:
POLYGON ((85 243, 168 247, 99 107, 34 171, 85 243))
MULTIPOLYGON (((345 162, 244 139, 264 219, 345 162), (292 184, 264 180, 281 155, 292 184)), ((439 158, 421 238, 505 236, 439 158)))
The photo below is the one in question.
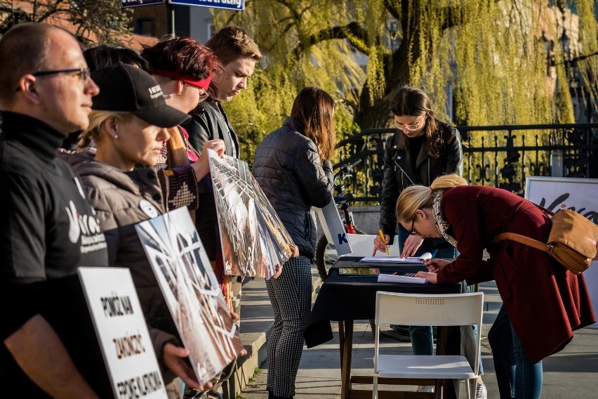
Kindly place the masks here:
POLYGON ((291 256, 293 240, 247 162, 208 154, 225 273, 268 280, 291 256))

